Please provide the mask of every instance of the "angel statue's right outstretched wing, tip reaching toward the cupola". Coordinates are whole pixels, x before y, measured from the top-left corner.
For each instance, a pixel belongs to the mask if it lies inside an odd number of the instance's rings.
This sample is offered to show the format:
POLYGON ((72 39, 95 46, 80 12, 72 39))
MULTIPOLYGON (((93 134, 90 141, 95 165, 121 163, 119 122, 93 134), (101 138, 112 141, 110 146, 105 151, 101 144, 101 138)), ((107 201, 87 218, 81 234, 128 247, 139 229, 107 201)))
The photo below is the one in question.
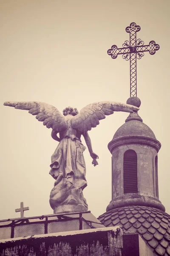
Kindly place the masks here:
POLYGON ((113 114, 114 111, 133 113, 133 111, 138 110, 139 108, 135 106, 120 102, 94 102, 82 108, 79 114, 71 119, 71 126, 80 132, 86 132, 99 125, 99 120, 113 114))

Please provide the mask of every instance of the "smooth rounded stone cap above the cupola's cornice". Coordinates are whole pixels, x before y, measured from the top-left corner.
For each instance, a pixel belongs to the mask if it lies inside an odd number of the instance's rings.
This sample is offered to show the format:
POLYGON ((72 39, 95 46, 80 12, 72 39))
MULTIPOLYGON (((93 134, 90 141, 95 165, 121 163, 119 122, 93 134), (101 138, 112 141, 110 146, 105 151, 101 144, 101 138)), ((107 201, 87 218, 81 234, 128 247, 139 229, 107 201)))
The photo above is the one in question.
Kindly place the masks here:
MULTIPOLYGON (((128 118, 127 118, 128 119, 128 118)), ((126 119, 126 120, 127 120, 126 119)), ((113 140, 118 139, 120 137, 125 136, 145 136, 156 140, 155 134, 153 131, 145 125, 142 121, 131 119, 127 120, 128 122, 125 122, 114 134, 113 140)))

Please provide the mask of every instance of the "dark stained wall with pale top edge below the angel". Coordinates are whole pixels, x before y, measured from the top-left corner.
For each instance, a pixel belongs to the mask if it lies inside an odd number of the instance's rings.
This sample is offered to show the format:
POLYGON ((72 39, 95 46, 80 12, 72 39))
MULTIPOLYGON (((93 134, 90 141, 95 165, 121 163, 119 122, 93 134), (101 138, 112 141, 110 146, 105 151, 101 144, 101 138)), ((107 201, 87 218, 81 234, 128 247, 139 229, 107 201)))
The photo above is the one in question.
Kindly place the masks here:
POLYGON ((8 256, 122 256, 119 227, 37 235, 0 241, 0 255, 8 256))

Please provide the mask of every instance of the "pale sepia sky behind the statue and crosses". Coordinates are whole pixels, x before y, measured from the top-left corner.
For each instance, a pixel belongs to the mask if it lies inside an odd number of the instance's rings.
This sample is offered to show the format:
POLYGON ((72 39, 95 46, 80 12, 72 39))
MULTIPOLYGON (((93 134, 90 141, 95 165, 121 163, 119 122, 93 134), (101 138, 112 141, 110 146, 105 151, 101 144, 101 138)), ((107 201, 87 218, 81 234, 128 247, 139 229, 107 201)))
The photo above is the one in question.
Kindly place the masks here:
MULTIPOLYGON (((137 61, 137 91, 142 117, 161 142, 159 199, 170 214, 169 0, 1 0, 0 1, 0 219, 52 214, 49 175, 57 142, 51 129, 28 111, 3 106, 5 101, 40 101, 62 112, 92 102, 126 103, 130 96, 129 61, 107 54, 122 47, 126 26, 141 26, 137 38, 160 45, 137 61)), ((111 153, 108 143, 127 113, 114 113, 89 132, 99 155, 94 167, 85 150, 88 207, 98 217, 111 201, 111 153)), ((82 139, 83 144, 85 141, 82 139)))

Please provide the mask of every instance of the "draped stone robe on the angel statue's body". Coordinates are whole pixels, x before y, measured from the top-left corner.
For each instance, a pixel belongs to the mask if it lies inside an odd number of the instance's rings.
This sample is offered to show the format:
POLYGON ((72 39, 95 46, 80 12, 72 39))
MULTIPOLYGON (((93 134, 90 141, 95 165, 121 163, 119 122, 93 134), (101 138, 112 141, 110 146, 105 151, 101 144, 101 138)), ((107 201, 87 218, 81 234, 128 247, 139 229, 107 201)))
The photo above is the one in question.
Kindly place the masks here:
POLYGON ((58 179, 59 183, 60 180, 63 183, 63 179, 66 179, 75 188, 84 189, 87 186, 83 157, 85 146, 80 140, 81 134, 71 127, 72 117, 71 115, 66 116, 67 129, 59 134, 61 140, 51 156, 50 174, 55 180, 58 179))

